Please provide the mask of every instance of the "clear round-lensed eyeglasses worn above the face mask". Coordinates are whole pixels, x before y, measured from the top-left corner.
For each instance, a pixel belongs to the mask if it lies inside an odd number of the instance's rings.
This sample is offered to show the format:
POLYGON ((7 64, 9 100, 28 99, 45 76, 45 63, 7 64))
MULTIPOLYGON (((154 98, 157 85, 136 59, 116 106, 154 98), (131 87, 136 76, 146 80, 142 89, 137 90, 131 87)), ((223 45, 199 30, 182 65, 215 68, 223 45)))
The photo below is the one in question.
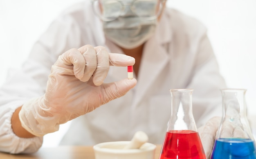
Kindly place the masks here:
POLYGON ((127 6, 133 14, 144 20, 155 20, 162 12, 166 0, 92 0, 94 12, 101 20, 109 22, 117 19, 127 6))

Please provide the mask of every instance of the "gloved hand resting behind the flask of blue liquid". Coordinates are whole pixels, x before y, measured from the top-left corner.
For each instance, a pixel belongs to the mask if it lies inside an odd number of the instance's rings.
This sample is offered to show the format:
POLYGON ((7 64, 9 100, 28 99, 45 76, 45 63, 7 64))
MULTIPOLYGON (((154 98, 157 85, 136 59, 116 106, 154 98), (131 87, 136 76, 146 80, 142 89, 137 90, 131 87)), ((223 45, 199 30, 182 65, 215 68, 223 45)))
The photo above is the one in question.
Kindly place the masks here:
MULTIPOLYGON (((228 116, 226 116, 229 119, 228 116)), ((202 145, 204 147, 204 152, 208 159, 211 158, 212 148, 216 140, 217 131, 219 131, 219 126, 221 123, 221 117, 213 117, 207 121, 204 126, 198 129, 202 145)), ((229 120, 224 120, 222 122, 220 130, 220 138, 247 138, 247 134, 242 129, 242 123, 239 121, 230 122, 229 120)))

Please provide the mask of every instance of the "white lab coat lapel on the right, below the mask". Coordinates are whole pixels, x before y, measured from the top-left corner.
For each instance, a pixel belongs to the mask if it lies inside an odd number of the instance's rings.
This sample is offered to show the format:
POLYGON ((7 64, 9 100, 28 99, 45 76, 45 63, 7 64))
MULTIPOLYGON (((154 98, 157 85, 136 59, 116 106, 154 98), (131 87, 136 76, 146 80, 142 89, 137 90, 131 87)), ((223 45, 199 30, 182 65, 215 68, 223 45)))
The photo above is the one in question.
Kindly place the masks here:
MULTIPOLYGON (((169 61, 168 43, 171 41, 170 29, 166 24, 159 24, 156 34, 145 44, 139 68, 136 86, 135 105, 147 94, 151 85, 157 82, 158 75, 169 61), (160 29, 161 28, 161 29, 160 29)), ((170 25, 167 25, 170 27, 170 25)))

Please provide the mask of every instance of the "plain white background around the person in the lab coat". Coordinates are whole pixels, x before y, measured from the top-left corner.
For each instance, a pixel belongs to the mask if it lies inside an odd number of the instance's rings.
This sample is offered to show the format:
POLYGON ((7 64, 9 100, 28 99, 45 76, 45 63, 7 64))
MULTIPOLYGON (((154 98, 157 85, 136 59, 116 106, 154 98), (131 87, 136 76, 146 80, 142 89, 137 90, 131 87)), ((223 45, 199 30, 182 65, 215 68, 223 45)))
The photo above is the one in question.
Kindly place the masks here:
MULTIPOLYGON (((0 0, 0 85, 8 68, 20 67, 52 20, 79 1, 0 0)), ((248 116, 256 121, 256 0, 168 0, 167 6, 207 26, 221 74, 228 87, 247 89, 248 116)), ((69 124, 46 135, 43 146, 56 146, 69 124)))

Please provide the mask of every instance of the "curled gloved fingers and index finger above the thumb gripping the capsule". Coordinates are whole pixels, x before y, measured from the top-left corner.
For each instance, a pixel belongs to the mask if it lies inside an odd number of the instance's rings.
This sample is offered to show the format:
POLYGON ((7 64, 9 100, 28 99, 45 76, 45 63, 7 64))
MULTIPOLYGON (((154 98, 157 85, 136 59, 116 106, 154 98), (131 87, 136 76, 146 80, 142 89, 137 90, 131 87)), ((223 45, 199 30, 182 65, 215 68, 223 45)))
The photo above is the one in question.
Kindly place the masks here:
POLYGON ((135 59, 125 54, 109 53, 102 46, 82 46, 70 49, 59 56, 54 65, 74 70, 74 75, 80 81, 86 82, 93 76, 94 85, 101 85, 108 74, 110 65, 134 65, 135 59))

